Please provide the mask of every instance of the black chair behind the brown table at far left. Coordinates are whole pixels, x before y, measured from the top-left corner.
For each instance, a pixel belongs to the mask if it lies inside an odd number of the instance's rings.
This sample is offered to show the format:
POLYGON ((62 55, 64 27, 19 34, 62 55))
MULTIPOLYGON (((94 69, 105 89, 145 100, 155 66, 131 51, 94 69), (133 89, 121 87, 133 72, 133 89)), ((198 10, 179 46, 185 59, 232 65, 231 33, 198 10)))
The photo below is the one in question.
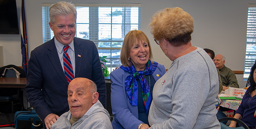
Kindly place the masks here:
MULTIPOLYGON (((6 65, 0 68, 1 77, 26 77, 23 69, 15 65, 6 65)), ((12 113, 14 113, 14 106, 21 105, 19 98, 19 88, 0 88, 0 103, 11 103, 12 113)))

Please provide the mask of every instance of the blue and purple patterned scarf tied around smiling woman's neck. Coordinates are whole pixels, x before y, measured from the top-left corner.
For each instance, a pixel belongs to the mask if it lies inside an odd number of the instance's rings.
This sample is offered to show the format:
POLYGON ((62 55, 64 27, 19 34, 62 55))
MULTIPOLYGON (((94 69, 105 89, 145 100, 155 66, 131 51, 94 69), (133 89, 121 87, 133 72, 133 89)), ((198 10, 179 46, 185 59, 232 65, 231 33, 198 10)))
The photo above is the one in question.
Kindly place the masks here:
POLYGON ((134 65, 132 64, 132 62, 130 62, 130 64, 131 66, 123 66, 123 65, 120 66, 122 70, 130 74, 125 79, 125 90, 128 95, 129 102, 131 103, 132 106, 138 105, 138 83, 136 80, 140 80, 143 105, 147 113, 149 110, 152 98, 150 94, 150 88, 148 86, 145 75, 153 74, 157 68, 158 63, 154 62, 154 64, 152 64, 149 59, 146 64, 146 69, 143 71, 137 71, 134 65))

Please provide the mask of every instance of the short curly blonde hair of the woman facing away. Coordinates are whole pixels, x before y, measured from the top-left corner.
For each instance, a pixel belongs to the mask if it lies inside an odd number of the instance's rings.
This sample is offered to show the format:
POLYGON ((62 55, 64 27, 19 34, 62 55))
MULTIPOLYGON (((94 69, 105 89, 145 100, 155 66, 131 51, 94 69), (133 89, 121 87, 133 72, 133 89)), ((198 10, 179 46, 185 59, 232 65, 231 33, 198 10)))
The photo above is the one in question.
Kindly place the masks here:
POLYGON ((194 20, 179 7, 165 8, 151 17, 149 29, 156 40, 166 39, 177 47, 191 41, 194 20))

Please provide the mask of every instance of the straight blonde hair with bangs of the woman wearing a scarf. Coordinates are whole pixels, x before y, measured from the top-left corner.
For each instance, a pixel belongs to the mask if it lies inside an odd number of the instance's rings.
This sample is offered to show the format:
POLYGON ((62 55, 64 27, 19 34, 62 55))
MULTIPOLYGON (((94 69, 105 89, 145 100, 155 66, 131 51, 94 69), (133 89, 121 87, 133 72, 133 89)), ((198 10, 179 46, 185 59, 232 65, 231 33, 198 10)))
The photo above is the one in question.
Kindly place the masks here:
POLYGON ((131 30, 128 34, 125 35, 123 40, 123 45, 121 48, 120 59, 123 66, 131 66, 129 58, 130 58, 130 50, 134 46, 134 44, 138 42, 145 41, 149 47, 149 59, 153 58, 151 52, 150 42, 147 38, 147 35, 143 33, 141 30, 131 30))

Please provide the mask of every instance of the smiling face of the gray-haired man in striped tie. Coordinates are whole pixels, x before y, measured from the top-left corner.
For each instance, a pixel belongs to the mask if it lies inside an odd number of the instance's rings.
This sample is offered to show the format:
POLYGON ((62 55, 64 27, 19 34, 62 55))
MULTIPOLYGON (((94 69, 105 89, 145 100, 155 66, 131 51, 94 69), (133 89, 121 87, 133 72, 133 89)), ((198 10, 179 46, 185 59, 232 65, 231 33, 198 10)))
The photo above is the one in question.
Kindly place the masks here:
POLYGON ((57 15, 54 23, 49 22, 57 41, 69 45, 76 35, 76 19, 73 14, 57 15))

